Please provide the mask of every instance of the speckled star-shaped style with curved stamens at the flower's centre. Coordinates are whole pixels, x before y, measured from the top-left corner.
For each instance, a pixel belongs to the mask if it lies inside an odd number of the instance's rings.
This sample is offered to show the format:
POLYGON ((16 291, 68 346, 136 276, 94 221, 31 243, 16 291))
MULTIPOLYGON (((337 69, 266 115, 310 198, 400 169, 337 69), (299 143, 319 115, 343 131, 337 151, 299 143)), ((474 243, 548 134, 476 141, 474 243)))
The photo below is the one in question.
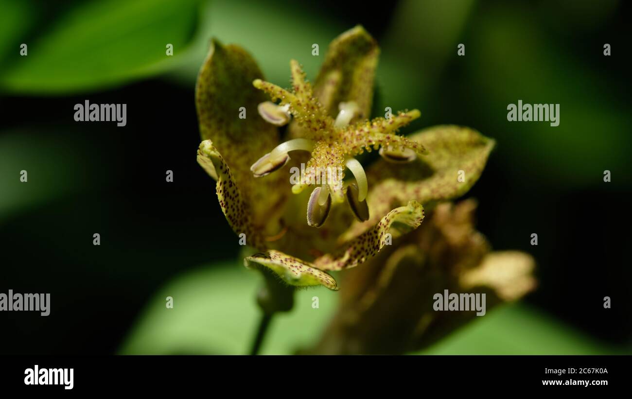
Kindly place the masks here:
POLYGON ((310 152, 307 168, 301 165, 300 181, 293 183, 292 192, 300 193, 307 186, 313 189, 308 201, 307 222, 320 227, 325 222, 332 200, 341 202, 346 199, 349 208, 360 221, 368 220, 368 181, 367 174, 355 155, 366 149, 379 148, 382 158, 389 162, 411 162, 425 148, 416 141, 398 136, 396 131, 420 116, 418 110, 399 112, 385 118, 372 121, 353 122, 362 114, 355 101, 338 104, 339 112, 334 120, 313 95, 312 86, 305 80, 300 65, 290 63, 293 92, 289 92, 272 83, 255 80, 253 85, 267 92, 272 101, 263 102, 257 107, 260 116, 276 126, 288 124, 294 118, 294 126, 303 136, 279 144, 269 153, 259 158, 250 167, 255 177, 266 176, 281 169, 289 161, 292 151, 310 152), (380 148, 381 147, 381 148, 380 148), (342 184, 343 170, 353 174, 355 182, 342 184), (321 177, 325 176, 324 181, 321 177))

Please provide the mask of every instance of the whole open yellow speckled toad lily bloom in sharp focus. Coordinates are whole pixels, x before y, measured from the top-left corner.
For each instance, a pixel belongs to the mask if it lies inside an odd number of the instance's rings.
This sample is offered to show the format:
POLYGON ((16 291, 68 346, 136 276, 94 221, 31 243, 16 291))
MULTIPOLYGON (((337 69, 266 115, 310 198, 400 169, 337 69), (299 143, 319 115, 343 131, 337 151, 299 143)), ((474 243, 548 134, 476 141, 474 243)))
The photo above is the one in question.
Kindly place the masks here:
POLYGON ((332 271, 372 258, 422 223, 422 204, 461 196, 477 181, 494 146, 477 131, 396 134, 418 110, 368 121, 378 54, 375 40, 355 27, 329 45, 313 87, 291 61, 285 90, 265 81, 241 47, 212 42, 196 87, 204 140, 197 159, 216 179, 234 232, 260 251, 245 259, 248 268, 336 290, 332 271), (372 150, 382 159, 365 172, 355 157, 372 150), (288 169, 301 170, 300 178, 288 169), (346 169, 353 179, 320 179, 324 170, 346 169))

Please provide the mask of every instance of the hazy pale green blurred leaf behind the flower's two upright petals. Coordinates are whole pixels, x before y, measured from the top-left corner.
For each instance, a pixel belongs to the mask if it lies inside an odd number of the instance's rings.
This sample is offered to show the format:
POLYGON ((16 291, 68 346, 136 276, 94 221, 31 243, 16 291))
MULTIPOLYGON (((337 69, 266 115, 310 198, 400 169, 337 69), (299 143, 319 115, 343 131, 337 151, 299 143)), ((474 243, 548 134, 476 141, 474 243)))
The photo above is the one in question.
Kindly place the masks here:
POLYGON ((225 45, 238 44, 252 54, 267 81, 288 86, 290 59, 299 61, 313 80, 329 42, 353 27, 327 18, 316 4, 284 7, 270 0, 211 1, 201 20, 195 55, 171 76, 185 85, 195 82, 211 37, 225 45), (319 45, 318 56, 312 55, 312 44, 319 45))

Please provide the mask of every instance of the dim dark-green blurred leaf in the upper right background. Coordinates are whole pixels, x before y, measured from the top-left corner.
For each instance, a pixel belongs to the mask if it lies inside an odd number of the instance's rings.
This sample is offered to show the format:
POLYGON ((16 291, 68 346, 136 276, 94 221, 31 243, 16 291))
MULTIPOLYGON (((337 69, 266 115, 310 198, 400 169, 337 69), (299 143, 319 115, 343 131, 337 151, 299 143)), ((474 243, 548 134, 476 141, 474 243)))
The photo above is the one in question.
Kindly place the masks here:
MULTIPOLYGON (((476 51, 464 60, 470 90, 480 93, 472 108, 482 120, 474 126, 493 124, 487 133, 501 143, 499 157, 507 169, 538 176, 540 184, 598 186, 605 169, 618 176, 617 182, 629 184, 631 176, 624 170, 632 117, 621 97, 624 91, 612 87, 612 76, 529 22, 536 18, 535 11, 517 3, 477 15, 476 35, 468 42, 476 51), (507 105, 518 100, 560 104, 559 126, 508 122, 507 105)), ((601 54, 603 49, 586 51, 601 54)))

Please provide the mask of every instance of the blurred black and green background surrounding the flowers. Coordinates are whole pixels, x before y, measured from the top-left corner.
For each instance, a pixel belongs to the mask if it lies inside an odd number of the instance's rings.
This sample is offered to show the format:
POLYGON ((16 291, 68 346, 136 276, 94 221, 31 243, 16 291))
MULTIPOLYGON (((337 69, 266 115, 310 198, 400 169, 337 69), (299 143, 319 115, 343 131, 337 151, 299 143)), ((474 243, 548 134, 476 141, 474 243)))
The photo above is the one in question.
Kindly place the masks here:
MULTIPOLYGON (((422 353, 632 353, 629 2, 368 4, 0 0, 0 292, 52 296, 46 318, 0 314, 0 353, 246 353, 259 276, 195 160, 197 71, 215 36, 267 80, 286 85, 291 58, 313 79, 358 23, 382 49, 375 109, 420 109, 406 132, 454 123, 497 140, 467 196, 495 249, 538 263, 524 301, 422 353), (127 104, 127 126, 75 122, 85 99, 127 104), (559 126, 507 122, 519 99, 559 103, 559 126)), ((335 306, 334 292, 300 291, 262 352, 313 342, 335 306)))

